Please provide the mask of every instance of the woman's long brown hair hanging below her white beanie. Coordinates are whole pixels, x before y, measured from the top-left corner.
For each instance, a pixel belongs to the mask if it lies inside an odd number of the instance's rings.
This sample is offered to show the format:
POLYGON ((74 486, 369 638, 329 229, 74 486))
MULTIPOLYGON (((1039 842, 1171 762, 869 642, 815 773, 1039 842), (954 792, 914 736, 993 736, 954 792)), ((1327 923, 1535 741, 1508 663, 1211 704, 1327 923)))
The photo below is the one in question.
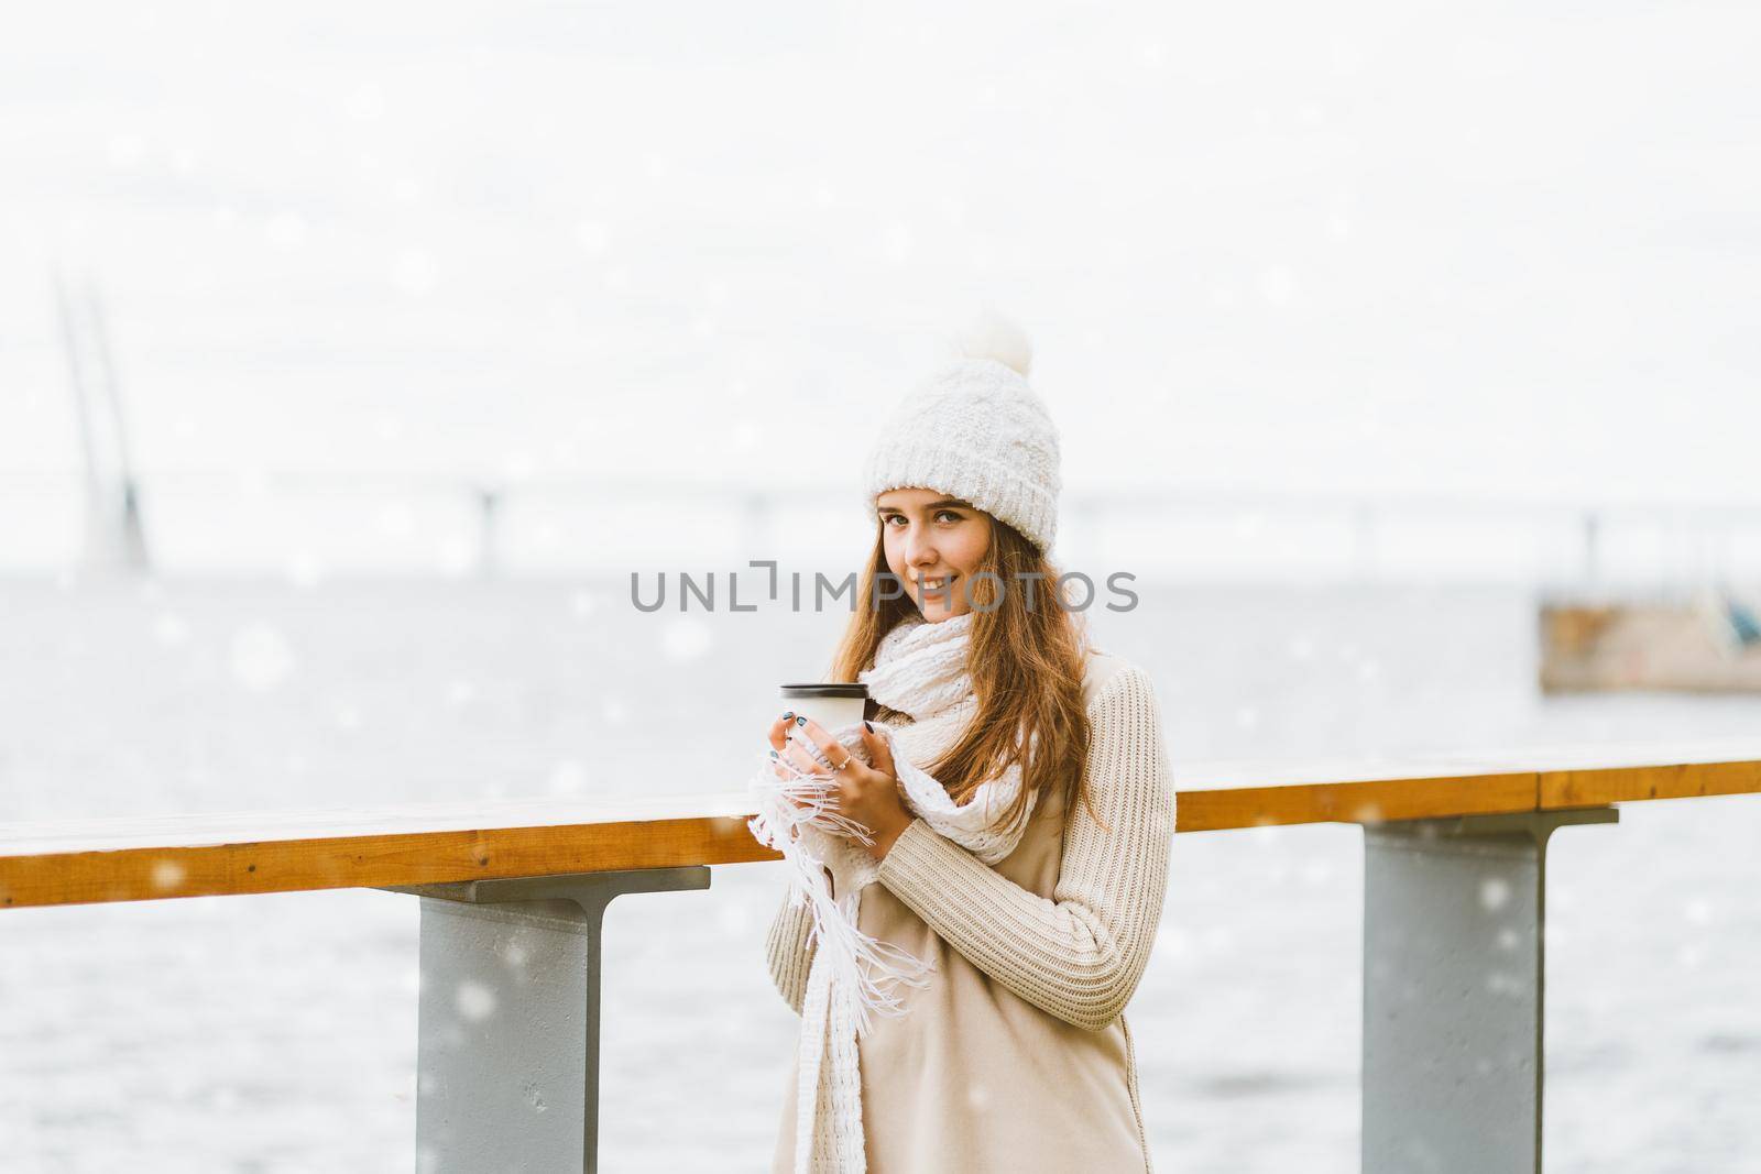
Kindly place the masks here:
MULTIPOLYGON (((1088 711, 1083 704, 1083 665, 1088 641, 1057 590, 1058 572, 1021 533, 977 510, 990 525, 990 544, 963 588, 972 593, 972 644, 967 671, 977 713, 942 757, 919 764, 947 787, 954 803, 967 803, 979 783, 1021 762, 1021 794, 993 820, 1014 827, 1030 796, 1064 796, 1069 820, 1081 799, 1101 822, 1083 774, 1088 757, 1088 711), (995 579, 981 572, 991 572, 995 579), (1028 579, 1028 576, 1041 576, 1028 579), (1032 602, 1028 602, 1032 590, 1032 602), (1000 597, 1000 602, 998 602, 1000 597), (1023 760, 1030 734, 1037 734, 1032 760, 1023 760)), ((854 681, 873 664, 882 637, 917 611, 909 595, 879 598, 888 570, 886 523, 875 532, 873 551, 856 591, 856 614, 831 660, 833 681, 854 681)))

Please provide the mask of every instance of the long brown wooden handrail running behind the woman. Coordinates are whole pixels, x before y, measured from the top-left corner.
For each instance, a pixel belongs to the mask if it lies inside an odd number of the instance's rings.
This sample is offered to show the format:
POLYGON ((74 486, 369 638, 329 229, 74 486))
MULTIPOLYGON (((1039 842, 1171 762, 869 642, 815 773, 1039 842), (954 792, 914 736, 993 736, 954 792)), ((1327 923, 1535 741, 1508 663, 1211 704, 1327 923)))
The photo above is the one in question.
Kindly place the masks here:
MULTIPOLYGON (((1405 762, 1180 764, 1178 829, 1761 794, 1761 741, 1405 762)), ((0 908, 780 859, 740 794, 0 824, 0 908)))

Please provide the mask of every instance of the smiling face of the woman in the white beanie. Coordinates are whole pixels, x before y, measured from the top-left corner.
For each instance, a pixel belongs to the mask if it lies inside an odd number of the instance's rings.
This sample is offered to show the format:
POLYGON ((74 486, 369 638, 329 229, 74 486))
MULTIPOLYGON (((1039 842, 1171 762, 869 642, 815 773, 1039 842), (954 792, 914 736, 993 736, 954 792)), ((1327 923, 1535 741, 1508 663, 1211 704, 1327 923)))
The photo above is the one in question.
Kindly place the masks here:
POLYGON ((888 489, 875 498, 875 512, 888 570, 905 584, 923 618, 939 623, 969 613, 969 576, 990 549, 990 514, 939 489, 888 489), (947 590, 928 590, 946 577, 947 590))

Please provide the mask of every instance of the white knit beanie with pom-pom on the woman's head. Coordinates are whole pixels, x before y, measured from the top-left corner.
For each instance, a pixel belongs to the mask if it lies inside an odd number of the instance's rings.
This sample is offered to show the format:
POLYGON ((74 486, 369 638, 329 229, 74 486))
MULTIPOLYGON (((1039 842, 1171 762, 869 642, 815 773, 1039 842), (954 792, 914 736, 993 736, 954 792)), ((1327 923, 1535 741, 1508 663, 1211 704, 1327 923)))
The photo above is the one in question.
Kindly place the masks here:
POLYGON ((1027 384, 1027 338, 990 319, 962 350, 880 426, 863 473, 866 510, 873 516, 888 489, 935 489, 972 502, 1050 554, 1062 488, 1058 429, 1027 384))

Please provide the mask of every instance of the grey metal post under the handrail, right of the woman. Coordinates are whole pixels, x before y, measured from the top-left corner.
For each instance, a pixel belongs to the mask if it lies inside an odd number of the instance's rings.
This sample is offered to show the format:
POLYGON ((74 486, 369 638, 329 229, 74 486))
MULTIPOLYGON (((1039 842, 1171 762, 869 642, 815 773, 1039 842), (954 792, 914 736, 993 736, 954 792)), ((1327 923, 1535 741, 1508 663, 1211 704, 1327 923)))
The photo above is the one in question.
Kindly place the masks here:
POLYGON ((1618 820, 1365 825, 1365 1174, 1541 1174, 1546 843, 1618 820))

